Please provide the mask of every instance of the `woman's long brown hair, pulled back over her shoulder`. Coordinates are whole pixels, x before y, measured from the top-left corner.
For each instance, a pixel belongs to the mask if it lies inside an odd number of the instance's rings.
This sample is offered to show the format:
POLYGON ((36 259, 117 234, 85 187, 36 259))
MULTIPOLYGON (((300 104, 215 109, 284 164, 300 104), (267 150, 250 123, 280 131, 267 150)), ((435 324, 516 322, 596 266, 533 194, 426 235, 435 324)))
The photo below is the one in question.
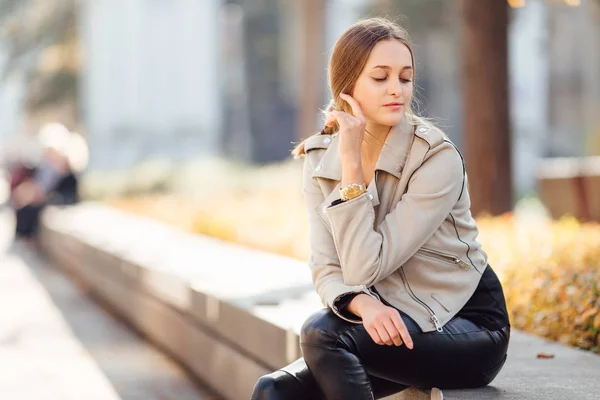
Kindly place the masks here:
MULTIPOLYGON (((350 26, 338 38, 329 58, 328 78, 329 89, 333 98, 325 109, 325 112, 340 110, 351 113, 350 106, 341 99, 341 93, 351 94, 354 85, 360 76, 371 51, 377 43, 382 40, 399 40, 410 51, 412 56, 413 73, 415 71, 415 57, 410 37, 406 29, 385 18, 368 18, 358 21, 350 26)), ((413 77, 414 80, 414 77, 413 77)), ((414 116, 414 112, 408 106, 408 114, 414 116)), ((337 124, 333 128, 325 127, 321 133, 333 133, 338 130, 337 124)), ((306 139, 292 150, 294 158, 306 154, 304 143, 306 139)))

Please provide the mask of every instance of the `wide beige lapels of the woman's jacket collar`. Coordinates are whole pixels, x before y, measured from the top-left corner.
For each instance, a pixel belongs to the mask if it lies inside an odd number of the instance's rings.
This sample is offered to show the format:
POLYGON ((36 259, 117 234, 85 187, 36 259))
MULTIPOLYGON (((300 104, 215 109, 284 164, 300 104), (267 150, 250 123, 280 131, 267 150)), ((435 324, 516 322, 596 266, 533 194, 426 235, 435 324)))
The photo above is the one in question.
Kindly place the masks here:
MULTIPOLYGON (((377 159, 375 171, 385 171, 400 179, 414 137, 414 128, 412 119, 408 115, 405 115, 397 125, 392 127, 377 159)), ((339 141, 337 136, 337 134, 334 135, 331 145, 325 150, 321 162, 314 169, 313 177, 334 181, 342 180, 342 163, 338 151, 339 141)))

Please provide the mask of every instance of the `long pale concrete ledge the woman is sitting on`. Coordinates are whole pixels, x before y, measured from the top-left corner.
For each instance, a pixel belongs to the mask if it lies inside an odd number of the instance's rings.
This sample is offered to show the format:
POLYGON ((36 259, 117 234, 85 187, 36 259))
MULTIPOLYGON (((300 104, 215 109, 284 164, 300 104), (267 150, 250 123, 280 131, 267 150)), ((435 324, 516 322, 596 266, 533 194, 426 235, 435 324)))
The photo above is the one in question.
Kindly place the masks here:
MULTIPOLYGON (((57 265, 230 400, 248 399, 258 377, 300 356, 300 326, 322 307, 302 262, 99 204, 48 209, 40 237, 57 265)), ((600 357, 514 332, 492 386, 445 394, 595 399, 598 378, 600 357)), ((420 398, 406 391, 388 400, 420 398)))

